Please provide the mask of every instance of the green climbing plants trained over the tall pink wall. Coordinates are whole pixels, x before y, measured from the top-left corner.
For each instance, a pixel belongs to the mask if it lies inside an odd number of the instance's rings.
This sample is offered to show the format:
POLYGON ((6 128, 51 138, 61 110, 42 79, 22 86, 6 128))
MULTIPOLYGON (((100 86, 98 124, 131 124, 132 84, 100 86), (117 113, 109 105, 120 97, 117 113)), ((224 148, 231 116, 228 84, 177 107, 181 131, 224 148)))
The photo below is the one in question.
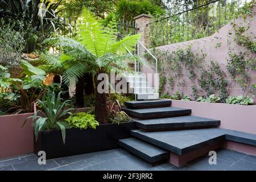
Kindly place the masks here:
MULTIPOLYGON (((253 7, 254 5, 248 5, 248 7, 242 9, 243 13, 240 14, 246 26, 238 26, 232 23, 234 33, 229 32, 229 36, 234 35, 231 41, 238 46, 245 47, 246 51, 237 53, 229 49, 229 56, 226 60, 226 70, 228 72, 225 72, 224 68, 221 68, 214 60, 205 65, 205 57, 207 55, 203 52, 203 49, 195 51, 191 50, 191 46, 185 49, 178 48, 172 52, 152 49, 152 52, 159 60, 159 93, 162 94, 162 97, 177 98, 177 90, 175 89, 179 89, 181 92, 179 93, 180 99, 191 100, 192 97, 193 100, 209 101, 210 97, 212 97, 214 102, 227 102, 231 98, 229 97, 229 88, 233 84, 233 82, 228 82, 228 76, 230 76, 244 90, 243 96, 241 96, 242 101, 236 102, 236 104, 251 104, 251 100, 250 102, 246 100, 248 100, 247 94, 251 93, 254 96, 256 90, 256 77, 250 77, 251 72, 256 70, 256 41, 255 36, 251 36, 247 31, 249 30, 249 22, 253 18, 249 20, 247 18, 248 15, 253 15, 253 7), (187 95, 188 93, 184 93, 184 88, 188 82, 192 84, 191 97, 187 95), (170 95, 170 93, 174 94, 170 95)), ((228 43, 231 44, 229 41, 228 43)), ((221 46, 221 43, 216 43, 214 48, 220 48, 221 46)), ((146 54, 145 57, 151 65, 154 65, 154 60, 150 56, 146 54)))

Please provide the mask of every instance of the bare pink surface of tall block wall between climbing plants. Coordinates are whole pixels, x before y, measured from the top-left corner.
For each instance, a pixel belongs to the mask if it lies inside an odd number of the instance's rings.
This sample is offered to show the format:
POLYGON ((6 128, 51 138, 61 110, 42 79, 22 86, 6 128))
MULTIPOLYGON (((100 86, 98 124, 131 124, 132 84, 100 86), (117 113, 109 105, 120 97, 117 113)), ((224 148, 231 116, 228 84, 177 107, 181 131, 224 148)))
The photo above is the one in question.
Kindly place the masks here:
MULTIPOLYGON (((256 7, 254 8, 254 18, 252 19, 251 17, 248 17, 245 21, 243 18, 238 18, 234 21, 238 26, 246 26, 249 25, 249 29, 247 30, 247 33, 250 35, 251 39, 255 39, 256 36, 256 7), (251 19, 251 20, 249 20, 251 19), (248 22, 248 23, 245 23, 248 22)), ((232 80, 232 78, 229 76, 229 73, 226 69, 227 65, 227 58, 229 58, 228 51, 229 49, 232 50, 232 52, 250 52, 249 50, 246 50, 245 47, 238 46, 237 43, 233 40, 234 39, 234 31, 232 24, 228 23, 224 27, 222 27, 218 32, 213 34, 212 36, 201 38, 201 39, 196 39, 196 40, 189 40, 187 42, 181 42, 181 43, 176 43, 176 44, 171 44, 171 45, 166 45, 166 46, 160 46, 156 47, 156 49, 160 49, 162 51, 176 51, 179 48, 187 48, 189 45, 191 46, 191 51, 196 54, 198 53, 201 55, 201 53, 206 53, 207 56, 205 57, 205 68, 207 68, 207 65, 209 65, 210 61, 217 61, 218 64, 220 65, 221 69, 226 73, 226 76, 228 78, 229 82, 229 95, 232 96, 237 96, 237 95, 243 95, 244 91, 240 88, 240 86, 237 84, 235 80, 232 80), (229 36, 229 32, 232 32, 232 35, 229 36), (219 37, 219 38, 217 38, 219 37), (221 38, 220 38, 221 37, 221 38), (230 44, 229 44, 229 43, 230 44), (221 44, 220 47, 216 47, 217 43, 221 44), (202 52, 201 52, 202 51, 202 52)), ((250 52, 251 53, 251 52, 250 52)), ((255 54, 254 54, 255 56, 255 54)), ((171 60, 170 60, 171 61, 171 60)), ((147 66, 148 67, 148 66, 147 66)), ((168 67, 168 65, 166 65, 168 67)), ((151 65, 151 68, 155 68, 155 65, 151 65)), ((146 68, 143 67, 143 70, 145 72, 154 72, 151 68, 146 68)), ((192 97, 192 88, 191 86, 194 85, 194 83, 191 80, 188 80, 182 88, 181 86, 177 86, 177 82, 182 81, 185 77, 181 77, 180 80, 174 80, 174 89, 169 88, 169 82, 168 82, 168 77, 171 76, 171 71, 165 71, 165 76, 167 78, 166 85, 164 87, 163 93, 174 93, 177 90, 180 93, 188 94, 189 96, 192 97)), ((185 75, 185 70, 184 70, 184 75, 185 75)), ((250 72, 250 83, 249 85, 255 83, 255 77, 256 77, 256 71, 251 71, 250 72)), ((200 89, 200 86, 197 84, 197 81, 195 81, 195 85, 197 88, 200 89)), ((249 90, 246 90, 245 94, 247 94, 249 90)), ((203 95, 204 93, 198 93, 200 95, 203 95)), ((249 94, 250 97, 251 94, 249 94)), ((255 100, 255 98, 254 98, 255 100)))

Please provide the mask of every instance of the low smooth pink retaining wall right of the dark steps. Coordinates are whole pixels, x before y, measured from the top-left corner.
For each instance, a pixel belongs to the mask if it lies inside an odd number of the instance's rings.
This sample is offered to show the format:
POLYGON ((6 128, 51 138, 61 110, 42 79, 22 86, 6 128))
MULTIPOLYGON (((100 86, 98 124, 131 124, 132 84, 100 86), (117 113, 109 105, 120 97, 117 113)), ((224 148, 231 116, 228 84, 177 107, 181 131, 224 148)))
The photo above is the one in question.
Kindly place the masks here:
POLYGON ((220 119, 220 127, 224 129, 256 134, 256 105, 172 100, 172 107, 192 109, 195 116, 220 119))

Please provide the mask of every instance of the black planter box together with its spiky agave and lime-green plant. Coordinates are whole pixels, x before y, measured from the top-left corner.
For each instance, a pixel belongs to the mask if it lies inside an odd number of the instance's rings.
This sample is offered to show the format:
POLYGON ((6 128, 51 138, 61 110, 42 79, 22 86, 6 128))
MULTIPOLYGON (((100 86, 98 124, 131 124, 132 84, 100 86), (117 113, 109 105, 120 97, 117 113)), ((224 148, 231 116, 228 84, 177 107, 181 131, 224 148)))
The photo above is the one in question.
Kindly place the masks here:
POLYGON ((51 159, 110 150, 118 148, 118 140, 129 138, 130 130, 135 129, 130 119, 99 125, 92 114, 72 114, 70 109, 63 109, 69 101, 61 103, 60 94, 44 94, 36 103, 40 110, 28 117, 34 123, 35 154, 45 151, 47 159, 51 159))

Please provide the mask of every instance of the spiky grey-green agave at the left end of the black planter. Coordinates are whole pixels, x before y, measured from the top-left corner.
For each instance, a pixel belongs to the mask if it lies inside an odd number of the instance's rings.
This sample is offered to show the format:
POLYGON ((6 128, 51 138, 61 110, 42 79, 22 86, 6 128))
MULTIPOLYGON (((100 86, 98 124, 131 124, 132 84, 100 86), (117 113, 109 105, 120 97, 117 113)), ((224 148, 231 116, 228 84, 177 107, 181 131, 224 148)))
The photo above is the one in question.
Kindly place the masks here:
MULTIPOLYGON (((35 111, 34 115, 27 118, 32 118, 36 140, 38 139, 38 134, 40 131, 60 129, 63 142, 65 143, 65 129, 68 127, 68 125, 62 120, 66 115, 70 115, 72 119, 73 114, 70 112, 71 109, 64 109, 65 104, 71 101, 67 100, 61 104, 60 94, 61 92, 57 94, 57 96, 54 92, 44 94, 42 100, 38 100, 38 102, 35 104, 40 105, 42 110, 35 111)), ((27 122, 27 119, 23 123, 23 126, 27 122)))

